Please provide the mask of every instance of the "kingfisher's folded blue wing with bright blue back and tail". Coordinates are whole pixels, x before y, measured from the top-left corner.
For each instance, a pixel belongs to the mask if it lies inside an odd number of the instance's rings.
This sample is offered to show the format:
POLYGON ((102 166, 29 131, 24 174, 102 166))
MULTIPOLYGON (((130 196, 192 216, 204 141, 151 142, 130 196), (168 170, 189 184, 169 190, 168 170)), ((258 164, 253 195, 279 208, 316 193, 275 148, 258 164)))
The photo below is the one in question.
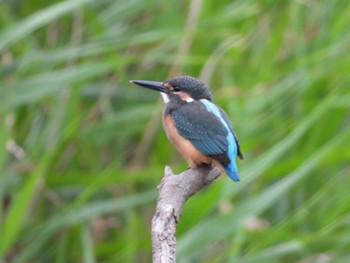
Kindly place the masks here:
POLYGON ((239 181, 235 163, 238 144, 220 108, 208 100, 193 101, 173 110, 171 115, 182 137, 217 160, 234 181, 239 181))

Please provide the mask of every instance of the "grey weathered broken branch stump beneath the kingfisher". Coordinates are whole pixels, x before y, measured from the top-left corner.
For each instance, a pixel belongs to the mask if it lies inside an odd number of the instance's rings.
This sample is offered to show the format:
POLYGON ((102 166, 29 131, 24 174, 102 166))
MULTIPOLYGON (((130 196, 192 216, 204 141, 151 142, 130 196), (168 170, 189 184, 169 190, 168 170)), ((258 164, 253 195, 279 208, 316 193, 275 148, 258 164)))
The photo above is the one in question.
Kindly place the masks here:
POLYGON ((176 225, 186 200, 212 183, 221 174, 215 166, 188 169, 177 175, 169 166, 158 186, 156 213, 152 220, 153 263, 176 262, 176 225))

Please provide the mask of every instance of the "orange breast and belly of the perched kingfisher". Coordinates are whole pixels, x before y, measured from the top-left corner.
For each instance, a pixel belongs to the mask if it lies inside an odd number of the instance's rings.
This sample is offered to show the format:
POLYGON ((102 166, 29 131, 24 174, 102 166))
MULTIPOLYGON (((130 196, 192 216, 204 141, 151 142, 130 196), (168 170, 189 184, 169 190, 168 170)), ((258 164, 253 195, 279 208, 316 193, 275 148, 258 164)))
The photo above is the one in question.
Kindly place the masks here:
POLYGON ((163 119, 163 125, 169 140, 188 162, 190 168, 194 169, 198 165, 212 163, 213 159, 211 157, 202 154, 189 140, 180 136, 170 114, 163 119))

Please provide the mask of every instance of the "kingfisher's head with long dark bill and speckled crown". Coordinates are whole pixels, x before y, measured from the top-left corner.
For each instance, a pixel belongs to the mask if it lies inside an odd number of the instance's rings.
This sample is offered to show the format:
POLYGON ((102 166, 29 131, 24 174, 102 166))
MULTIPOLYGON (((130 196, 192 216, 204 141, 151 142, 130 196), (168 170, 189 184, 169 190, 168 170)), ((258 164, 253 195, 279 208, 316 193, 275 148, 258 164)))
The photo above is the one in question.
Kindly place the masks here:
POLYGON ((199 79, 191 76, 177 76, 165 82, 148 80, 131 80, 131 82, 145 88, 160 91, 165 102, 173 96, 179 96, 187 102, 200 99, 213 100, 209 87, 199 79))

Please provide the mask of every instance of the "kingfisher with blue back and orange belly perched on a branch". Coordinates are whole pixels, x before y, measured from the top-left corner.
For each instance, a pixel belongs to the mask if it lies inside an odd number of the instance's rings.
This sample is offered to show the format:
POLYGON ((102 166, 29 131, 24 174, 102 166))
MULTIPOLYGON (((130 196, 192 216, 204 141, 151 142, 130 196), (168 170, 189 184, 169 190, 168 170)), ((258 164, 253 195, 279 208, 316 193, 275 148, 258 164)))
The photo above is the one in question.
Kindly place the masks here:
POLYGON ((227 114, 214 104, 207 84, 191 76, 130 82, 160 92, 165 103, 164 130, 189 168, 214 164, 233 181, 240 181, 236 157, 243 160, 243 154, 237 135, 227 114))

